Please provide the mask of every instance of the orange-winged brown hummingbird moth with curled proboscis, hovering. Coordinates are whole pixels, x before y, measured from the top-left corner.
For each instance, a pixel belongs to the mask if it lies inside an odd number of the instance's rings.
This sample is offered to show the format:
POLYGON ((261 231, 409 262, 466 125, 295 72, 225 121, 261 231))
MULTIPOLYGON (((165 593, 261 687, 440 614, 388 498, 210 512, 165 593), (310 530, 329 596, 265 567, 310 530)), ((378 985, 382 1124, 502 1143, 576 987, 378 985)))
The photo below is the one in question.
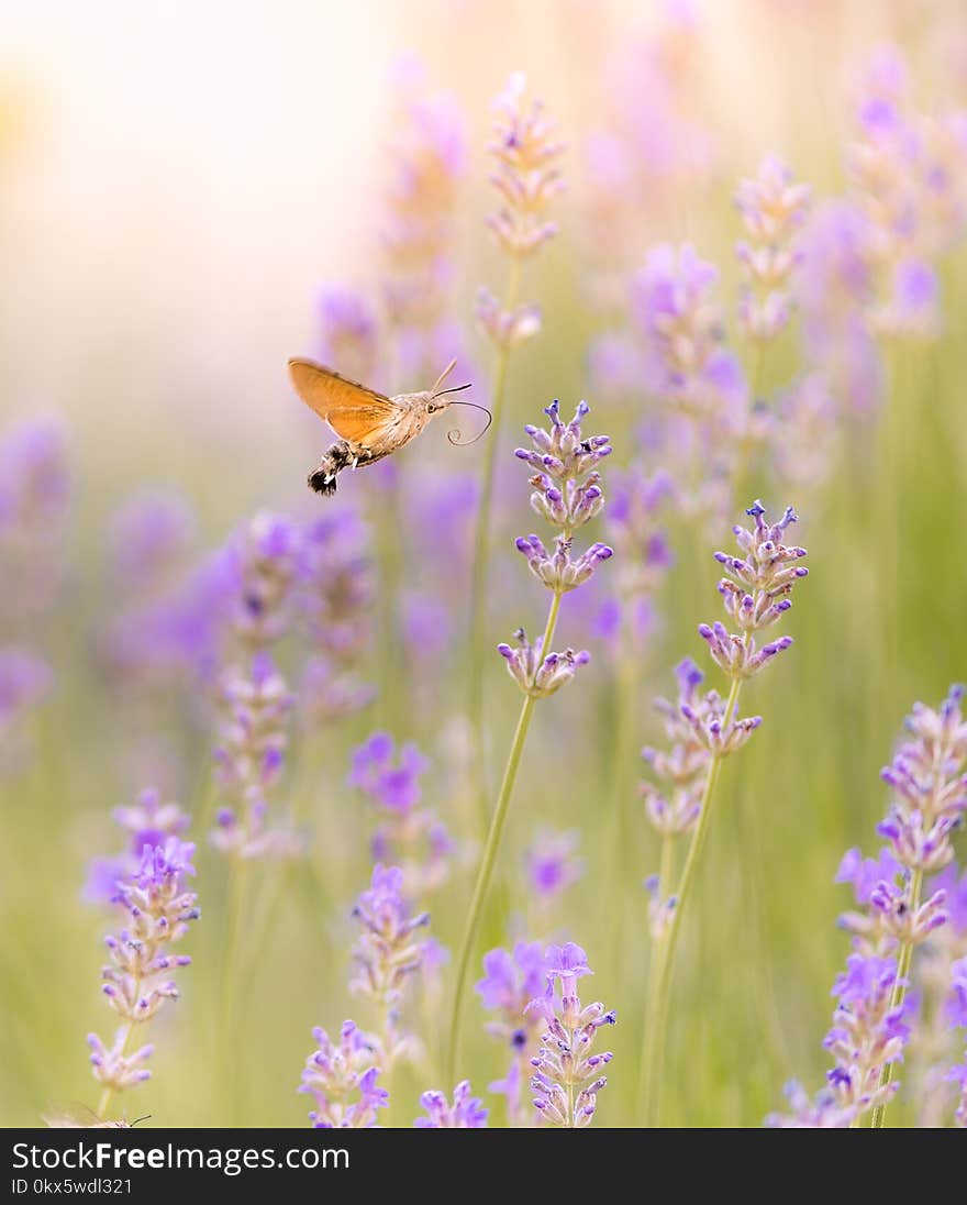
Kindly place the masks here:
MULTIPOLYGON (((319 468, 309 474, 309 487, 319 494, 335 494, 336 477, 343 469, 362 469, 391 455, 415 439, 431 418, 452 405, 483 410, 489 427, 493 416, 485 406, 479 406, 476 401, 453 402, 446 396, 468 389, 470 384, 440 388, 455 364, 456 360, 450 360, 432 389, 387 398, 322 364, 302 359, 289 360, 289 376, 295 392, 338 436, 338 442, 323 453, 319 468)), ((459 431, 448 431, 447 439, 455 445, 473 443, 487 427, 473 440, 461 439, 459 431)))

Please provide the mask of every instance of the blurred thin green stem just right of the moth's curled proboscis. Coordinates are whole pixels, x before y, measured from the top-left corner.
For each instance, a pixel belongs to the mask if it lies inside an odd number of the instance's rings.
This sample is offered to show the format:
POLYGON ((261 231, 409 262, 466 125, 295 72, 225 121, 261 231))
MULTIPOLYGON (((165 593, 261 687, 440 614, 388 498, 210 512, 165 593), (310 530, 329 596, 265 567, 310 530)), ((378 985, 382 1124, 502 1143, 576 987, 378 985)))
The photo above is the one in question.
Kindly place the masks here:
MULTIPOLYGON (((520 260, 511 259, 509 274, 507 277, 507 292, 503 298, 503 311, 512 312, 517 306, 520 292, 520 260)), ((487 821, 485 800, 487 787, 484 783, 484 736, 483 736, 483 674, 485 654, 487 623, 487 580, 490 568, 490 524, 491 510, 494 506, 494 475, 497 463, 497 451, 500 447, 501 418, 503 416, 503 402, 507 396, 507 369, 511 359, 511 348, 501 346, 497 348, 496 363, 494 366, 494 395, 490 408, 494 412, 494 434, 484 447, 483 476, 480 478, 480 500, 477 506, 477 524, 473 535, 473 575, 471 577, 470 593, 470 682, 467 696, 467 719, 470 722, 471 741, 473 742, 473 765, 476 778, 480 783, 478 792, 478 812, 482 825, 487 821)))

